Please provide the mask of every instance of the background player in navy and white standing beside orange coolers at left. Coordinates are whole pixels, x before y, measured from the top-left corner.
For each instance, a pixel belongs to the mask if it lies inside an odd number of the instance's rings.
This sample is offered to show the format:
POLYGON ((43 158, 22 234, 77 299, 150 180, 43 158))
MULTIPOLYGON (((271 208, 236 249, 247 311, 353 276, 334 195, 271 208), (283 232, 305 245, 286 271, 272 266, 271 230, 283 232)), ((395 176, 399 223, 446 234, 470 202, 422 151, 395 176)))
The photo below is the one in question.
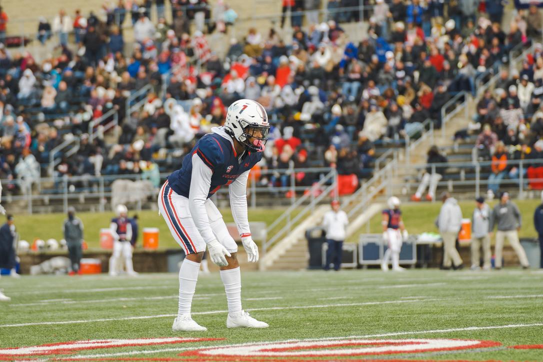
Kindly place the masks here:
POLYGON ((124 266, 127 274, 137 275, 132 264, 132 225, 127 217, 128 209, 124 205, 117 205, 117 217, 111 219, 110 229, 113 236, 113 254, 109 259, 109 275, 118 274, 118 264, 121 262, 121 255, 124 257, 124 266))

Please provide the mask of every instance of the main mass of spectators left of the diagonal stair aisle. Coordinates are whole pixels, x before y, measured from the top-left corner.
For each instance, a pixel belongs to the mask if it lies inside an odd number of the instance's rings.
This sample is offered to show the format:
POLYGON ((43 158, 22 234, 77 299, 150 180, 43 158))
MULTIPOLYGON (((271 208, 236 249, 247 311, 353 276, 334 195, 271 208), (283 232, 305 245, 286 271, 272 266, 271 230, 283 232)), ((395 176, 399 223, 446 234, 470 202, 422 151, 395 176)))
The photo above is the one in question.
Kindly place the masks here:
MULTIPOLYGON (((520 14, 506 34, 503 9, 475 9, 464 1, 375 3, 364 10, 367 34, 354 42, 342 24, 358 20, 357 1, 327 2, 329 13, 319 22, 320 1, 283 0, 280 26, 290 14, 292 39, 277 27, 251 28, 230 41, 225 58, 211 51, 204 35, 228 32, 236 21, 222 1, 210 9, 203 0, 172 0, 172 23, 163 17, 163 0, 134 1, 129 11, 121 0, 104 7, 100 17, 76 11, 72 18, 60 10, 52 25, 45 19, 39 24, 39 40, 52 37, 59 44, 53 58, 36 63, 30 53, 0 45, 0 178, 28 179, 17 172, 21 163, 35 175, 36 165, 48 164, 50 152, 69 137, 80 139, 80 149, 54 155, 60 159, 55 176, 178 168, 194 142, 223 124, 228 105, 242 97, 259 101, 273 125, 258 168, 327 166, 340 175, 368 177, 376 147, 400 144, 406 134, 424 129, 426 119, 439 128, 441 107, 452 94, 475 92, 477 74, 540 29, 534 30, 531 11, 520 14), (151 6, 156 21, 149 19, 151 6), (135 43, 127 52, 123 33, 129 20, 135 43), (144 106, 127 114, 127 98, 147 84, 153 90, 144 106), (110 110, 118 113, 121 128, 114 144, 101 127, 113 119, 102 117, 110 110), (101 122, 89 128, 95 120, 101 122)), ((539 65, 543 60, 534 58, 522 72, 531 72, 527 84, 539 65)), ((526 93, 522 82, 515 86, 519 97, 526 93)), ((538 83, 533 87, 535 92, 538 83)), ((507 104, 507 94, 497 107, 507 104)), ((533 103, 516 100, 526 109, 533 103)), ((506 108, 503 118, 522 132, 523 123, 513 120, 520 116, 506 108)), ((295 182, 310 186, 318 177, 298 173, 295 182)), ((259 182, 287 186, 290 179, 272 173, 259 182)), ((12 182, 6 188, 17 187, 12 182)))

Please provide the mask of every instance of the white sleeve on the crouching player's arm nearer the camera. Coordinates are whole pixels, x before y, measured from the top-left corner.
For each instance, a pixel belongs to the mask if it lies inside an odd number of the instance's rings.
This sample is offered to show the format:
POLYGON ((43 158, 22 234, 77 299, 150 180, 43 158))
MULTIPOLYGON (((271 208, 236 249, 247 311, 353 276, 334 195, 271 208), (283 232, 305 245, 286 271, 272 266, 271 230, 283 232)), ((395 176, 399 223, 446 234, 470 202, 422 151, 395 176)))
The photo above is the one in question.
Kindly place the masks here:
POLYGON ((188 208, 191 211, 192 220, 198 229, 204 242, 210 243, 217 239, 209 224, 209 217, 205 210, 205 201, 211 186, 213 170, 200 159, 197 154, 192 155, 191 189, 188 193, 188 208))

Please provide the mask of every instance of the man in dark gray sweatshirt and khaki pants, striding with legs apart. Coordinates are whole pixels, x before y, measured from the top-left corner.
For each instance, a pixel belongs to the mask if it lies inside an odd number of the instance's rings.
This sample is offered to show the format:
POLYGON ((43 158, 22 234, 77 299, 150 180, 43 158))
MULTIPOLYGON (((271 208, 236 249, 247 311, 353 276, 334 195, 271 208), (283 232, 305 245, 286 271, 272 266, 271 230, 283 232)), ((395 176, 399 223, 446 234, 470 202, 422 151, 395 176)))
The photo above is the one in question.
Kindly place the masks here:
POLYGON ((529 266, 526 252, 522 249, 519 242, 519 230, 521 226, 521 215, 519 208, 509 201, 509 194, 502 192, 500 196, 500 203, 494 206, 492 223, 490 230, 494 230, 494 226, 497 225, 498 231, 496 232, 496 269, 502 269, 502 250, 503 242, 505 238, 509 240, 509 244, 513 247, 516 255, 519 257, 520 265, 526 269, 529 266))

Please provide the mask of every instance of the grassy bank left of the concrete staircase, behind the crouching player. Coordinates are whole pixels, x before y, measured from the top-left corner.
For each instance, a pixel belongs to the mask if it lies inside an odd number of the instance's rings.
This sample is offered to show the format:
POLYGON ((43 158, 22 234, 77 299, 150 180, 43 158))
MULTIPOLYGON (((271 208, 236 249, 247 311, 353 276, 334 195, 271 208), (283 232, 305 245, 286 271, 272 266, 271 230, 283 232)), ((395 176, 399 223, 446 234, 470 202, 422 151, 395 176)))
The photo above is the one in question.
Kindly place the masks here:
MULTIPOLYGON (((271 225, 275 219, 285 211, 285 208, 256 208, 249 209, 249 220, 264 221, 266 225, 271 225)), ((221 209, 225 223, 233 223, 232 212, 230 208, 221 209)), ((132 216, 135 212, 130 211, 129 215, 132 216)), ((169 247, 179 247, 171 236, 168 230, 168 225, 156 211, 144 210, 137 212, 140 225, 140 236, 138 238, 138 244, 142 243, 142 231, 144 227, 157 227, 160 232, 160 244, 161 249, 169 247)), ((293 217, 298 214, 298 211, 293 212, 293 217)), ((81 212, 77 216, 83 221, 85 226, 85 240, 89 248, 99 247, 99 234, 100 228, 109 227, 111 218, 115 217, 112 212, 96 213, 96 212, 81 212)), ((35 215, 15 215, 15 225, 17 231, 21 236, 21 240, 27 240, 32 243, 34 239, 39 238, 47 240, 54 238, 60 240, 64 238, 62 236, 62 225, 66 215, 62 213, 52 214, 35 214, 35 215)), ((279 228, 286 223, 280 223, 275 230, 268 231, 268 237, 279 231, 279 228)), ((293 224, 294 225, 294 224, 293 224)))

